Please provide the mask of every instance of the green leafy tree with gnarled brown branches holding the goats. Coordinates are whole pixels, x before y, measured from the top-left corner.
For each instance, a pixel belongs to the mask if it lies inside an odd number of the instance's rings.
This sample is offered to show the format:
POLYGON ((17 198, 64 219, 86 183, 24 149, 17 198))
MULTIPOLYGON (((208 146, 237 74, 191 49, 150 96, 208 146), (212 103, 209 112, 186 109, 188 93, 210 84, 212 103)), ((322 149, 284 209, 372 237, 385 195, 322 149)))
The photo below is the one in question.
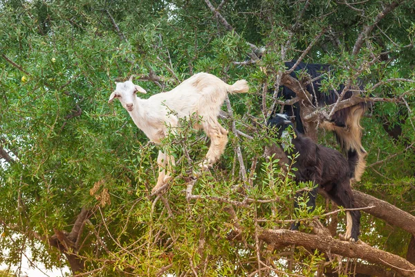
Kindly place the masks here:
POLYGON ((3 1, 0 262, 17 275, 27 256, 74 276, 414 276, 414 9, 409 0, 3 1), (310 77, 291 77, 288 60, 331 64, 322 89, 347 84, 353 97, 318 107, 304 89, 310 77), (107 100, 132 74, 159 93, 201 71, 251 89, 226 100, 230 141, 195 177, 203 132, 183 121, 156 147, 107 100), (283 85, 296 97, 277 98, 283 85), (353 184, 362 234, 352 243, 340 240, 344 209, 324 195, 313 213, 294 213, 293 195, 312 184, 292 181, 266 120, 297 102, 308 136, 338 148, 320 123, 362 101, 369 154, 353 184), (174 178, 151 195, 160 147, 176 157, 174 178), (300 231, 288 230, 297 218, 300 231))

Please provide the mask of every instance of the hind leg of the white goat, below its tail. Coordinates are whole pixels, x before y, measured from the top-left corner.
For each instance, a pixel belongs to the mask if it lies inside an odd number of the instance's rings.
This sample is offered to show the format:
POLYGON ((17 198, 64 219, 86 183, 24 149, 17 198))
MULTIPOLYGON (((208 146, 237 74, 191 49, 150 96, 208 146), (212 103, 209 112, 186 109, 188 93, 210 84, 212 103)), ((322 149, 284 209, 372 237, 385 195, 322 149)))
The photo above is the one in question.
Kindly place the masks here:
POLYGON ((203 123, 203 129, 210 137, 210 148, 203 163, 200 163, 202 170, 209 169, 213 163, 221 157, 228 143, 228 131, 216 120, 203 123))

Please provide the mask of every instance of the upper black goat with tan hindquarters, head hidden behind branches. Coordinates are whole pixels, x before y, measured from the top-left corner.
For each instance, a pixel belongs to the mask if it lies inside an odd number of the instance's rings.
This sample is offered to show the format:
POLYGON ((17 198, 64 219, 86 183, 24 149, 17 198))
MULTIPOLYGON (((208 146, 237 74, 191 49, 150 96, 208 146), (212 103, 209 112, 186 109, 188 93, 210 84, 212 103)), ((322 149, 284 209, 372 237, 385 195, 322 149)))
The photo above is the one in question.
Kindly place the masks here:
MULTIPOLYGON (((290 69, 294 64, 295 61, 286 62, 285 63, 288 69, 290 69)), ((295 71, 290 75, 293 78, 297 78, 298 71, 306 71, 308 75, 310 75, 311 79, 315 79, 320 77, 326 72, 330 71, 330 66, 327 64, 305 64, 300 62, 295 71)), ((324 105, 331 105, 338 100, 338 94, 342 93, 344 89, 344 84, 341 84, 340 87, 337 88, 337 93, 333 90, 324 93, 320 91, 321 89, 321 79, 314 80, 310 84, 306 85, 306 89, 313 97, 316 98, 317 103, 320 107, 324 105)), ((289 89, 288 87, 282 86, 282 91, 279 93, 279 97, 284 99, 291 99, 296 96, 295 92, 289 89)), ((343 99, 347 99, 351 97, 351 91, 347 91, 344 95, 343 99)), ((315 100, 313 100, 313 103, 315 100)), ((320 125, 329 131, 333 131, 335 134, 338 143, 340 143, 340 149, 344 154, 348 156, 356 152, 358 154, 358 163, 355 171, 353 172, 353 177, 356 181, 360 181, 360 177, 362 177, 363 172, 365 172, 366 161, 365 157, 367 156, 367 152, 365 148, 362 146, 362 127, 360 126, 360 118, 362 118, 363 114, 367 109, 366 102, 360 102, 357 105, 353 105, 351 107, 347 107, 344 109, 340 109, 333 114, 333 118, 330 122, 325 121, 322 122, 320 125)), ((295 103, 293 106, 284 106, 284 113, 288 116, 295 117, 295 125, 298 132, 304 134, 304 127, 302 124, 302 120, 299 116, 299 104, 298 102, 295 103)))

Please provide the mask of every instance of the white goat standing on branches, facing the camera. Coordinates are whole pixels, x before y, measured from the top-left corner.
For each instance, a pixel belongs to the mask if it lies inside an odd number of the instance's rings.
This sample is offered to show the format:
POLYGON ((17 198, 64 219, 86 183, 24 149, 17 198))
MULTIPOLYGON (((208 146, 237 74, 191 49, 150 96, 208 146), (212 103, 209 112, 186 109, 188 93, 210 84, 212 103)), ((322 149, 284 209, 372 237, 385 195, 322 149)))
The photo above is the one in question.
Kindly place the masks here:
MULTIPOLYGON (((111 93, 108 102, 112 102, 113 98, 120 99, 122 107, 127 109, 137 127, 154 143, 160 143, 169 132, 169 127, 178 126, 179 118, 198 116, 201 124, 195 123, 193 127, 203 128, 210 137, 210 148, 200 166, 202 170, 212 166, 221 157, 228 142, 228 131, 217 119, 221 105, 228 93, 247 92, 248 82, 239 80, 230 85, 212 74, 197 73, 171 91, 141 99, 136 96, 137 91, 147 91, 133 84, 132 77, 126 82, 116 83, 116 91, 111 93)), ((157 163, 159 175, 152 193, 172 179, 170 173, 174 157, 159 151, 157 163)))

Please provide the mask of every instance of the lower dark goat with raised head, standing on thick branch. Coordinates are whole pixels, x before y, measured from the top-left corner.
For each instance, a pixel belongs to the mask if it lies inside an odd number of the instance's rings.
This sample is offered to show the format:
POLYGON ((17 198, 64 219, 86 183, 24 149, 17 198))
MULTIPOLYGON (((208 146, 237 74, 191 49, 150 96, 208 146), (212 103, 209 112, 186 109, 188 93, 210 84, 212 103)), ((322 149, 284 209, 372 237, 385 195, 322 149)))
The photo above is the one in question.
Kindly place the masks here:
MULTIPOLYGON (((300 134, 285 114, 276 114, 273 118, 270 118, 268 126, 278 129, 273 134, 277 134, 279 139, 289 134, 287 130, 289 126, 294 129, 295 136, 291 142, 294 145, 294 152, 299 154, 293 164, 293 167, 297 168, 295 181, 313 181, 339 206, 355 208, 350 182, 358 162, 356 152, 349 152, 349 159, 346 159, 337 150, 315 143, 310 138, 300 134)), ((288 152, 286 154, 288 157, 288 152)), ((307 206, 311 206, 313 210, 315 208, 316 193, 317 188, 308 193, 307 206)), ((296 199, 298 196, 296 195, 296 199)), ((296 202, 295 207, 298 207, 296 202)), ((360 234, 360 212, 347 211, 346 213, 347 228, 344 239, 356 242, 360 234)), ((295 223, 291 225, 291 229, 297 230, 298 226, 299 223, 295 223)))

